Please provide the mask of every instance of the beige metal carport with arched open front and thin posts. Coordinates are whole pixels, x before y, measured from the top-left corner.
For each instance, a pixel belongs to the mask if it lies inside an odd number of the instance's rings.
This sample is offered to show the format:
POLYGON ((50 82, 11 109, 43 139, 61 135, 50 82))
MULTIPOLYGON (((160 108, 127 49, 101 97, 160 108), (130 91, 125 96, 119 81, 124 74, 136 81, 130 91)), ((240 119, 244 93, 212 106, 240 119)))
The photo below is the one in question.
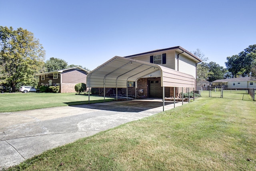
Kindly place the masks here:
MULTIPOLYGON (((87 87, 104 88, 104 99, 106 88, 127 88, 127 81, 135 82, 140 78, 150 77, 150 74, 160 71, 161 87, 163 87, 163 111, 164 111, 164 87, 194 87, 195 79, 193 76, 140 60, 123 58, 115 56, 104 64, 98 66, 95 70, 88 73, 86 83, 87 87)), ((128 93, 126 93, 128 98, 128 93)), ((136 91, 135 91, 136 97, 136 91)), ((117 93, 116 93, 117 98, 117 93)), ((89 88, 90 103, 90 88, 89 88)))

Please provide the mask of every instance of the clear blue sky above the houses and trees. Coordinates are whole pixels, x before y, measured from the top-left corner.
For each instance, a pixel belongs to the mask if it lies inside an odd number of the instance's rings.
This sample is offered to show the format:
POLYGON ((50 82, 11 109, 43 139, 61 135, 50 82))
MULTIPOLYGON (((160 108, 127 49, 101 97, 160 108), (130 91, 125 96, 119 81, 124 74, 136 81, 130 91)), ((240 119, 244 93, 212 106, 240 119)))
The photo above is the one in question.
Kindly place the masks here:
POLYGON ((256 44, 255 0, 0 0, 0 26, 27 29, 46 60, 93 70, 114 56, 181 46, 226 68, 256 44))

